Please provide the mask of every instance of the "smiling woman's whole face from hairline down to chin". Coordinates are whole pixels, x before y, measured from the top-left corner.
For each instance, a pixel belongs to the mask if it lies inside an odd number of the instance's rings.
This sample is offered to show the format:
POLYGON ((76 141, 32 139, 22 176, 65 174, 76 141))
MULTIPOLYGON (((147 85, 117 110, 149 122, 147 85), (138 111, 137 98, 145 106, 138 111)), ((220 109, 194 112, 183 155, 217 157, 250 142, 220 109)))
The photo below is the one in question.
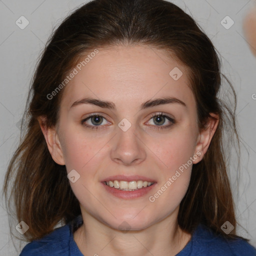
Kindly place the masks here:
MULTIPOLYGON (((187 70, 149 46, 99 48, 75 68, 61 100, 61 156, 55 160, 72 170, 70 185, 82 211, 116 229, 176 217, 192 162, 203 156, 187 70), (123 191, 107 186, 109 180, 154 183, 123 191)), ((115 186, 120 183, 127 182, 115 186)))

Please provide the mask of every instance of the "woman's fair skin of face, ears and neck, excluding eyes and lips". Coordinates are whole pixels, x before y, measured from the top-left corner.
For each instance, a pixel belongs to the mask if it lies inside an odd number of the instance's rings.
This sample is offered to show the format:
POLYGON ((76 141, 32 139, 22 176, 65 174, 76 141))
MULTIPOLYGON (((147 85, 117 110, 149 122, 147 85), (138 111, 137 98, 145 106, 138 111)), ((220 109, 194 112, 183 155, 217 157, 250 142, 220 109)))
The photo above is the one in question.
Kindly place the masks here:
MULTIPOLYGON (((169 177, 196 152, 205 154, 217 127, 211 114, 205 130, 199 131, 196 104, 188 87, 184 66, 160 49, 143 46, 99 48, 99 52, 65 87, 56 127, 39 119, 48 149, 67 172, 75 169, 80 178, 70 182, 80 202, 83 225, 74 240, 83 255, 175 255, 191 234, 181 230, 177 214, 190 180, 192 164, 153 202, 154 195, 169 177), (183 75, 174 80, 169 72, 178 67, 183 75), (140 109, 150 99, 175 97, 185 103, 168 103, 140 109), (111 101, 115 109, 88 103, 71 105, 84 97, 111 101), (162 112, 175 120, 158 120, 162 112), (103 116, 100 128, 81 124, 88 114, 103 116), (123 131, 118 123, 126 118, 131 127, 123 131), (162 121, 164 120, 164 122, 162 121), (108 176, 142 175, 155 180, 147 194, 123 199, 106 191, 100 182, 108 176), (120 230, 126 221, 128 231, 120 230)), ((84 58, 83 58, 84 59, 84 58)), ((95 125, 93 117, 83 123, 95 125)))

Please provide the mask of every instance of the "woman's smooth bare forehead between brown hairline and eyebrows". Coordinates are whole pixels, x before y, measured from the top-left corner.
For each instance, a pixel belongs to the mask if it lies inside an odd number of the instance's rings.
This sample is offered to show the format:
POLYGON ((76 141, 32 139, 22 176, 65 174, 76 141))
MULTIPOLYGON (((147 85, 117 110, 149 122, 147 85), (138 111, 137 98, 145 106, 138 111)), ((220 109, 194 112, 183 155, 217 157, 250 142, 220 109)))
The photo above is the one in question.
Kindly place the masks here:
POLYGON ((194 104, 187 68, 160 49, 114 46, 98 48, 97 54, 86 57, 74 66, 77 72, 65 86, 61 104, 71 106, 85 96, 126 106, 163 96, 194 104))

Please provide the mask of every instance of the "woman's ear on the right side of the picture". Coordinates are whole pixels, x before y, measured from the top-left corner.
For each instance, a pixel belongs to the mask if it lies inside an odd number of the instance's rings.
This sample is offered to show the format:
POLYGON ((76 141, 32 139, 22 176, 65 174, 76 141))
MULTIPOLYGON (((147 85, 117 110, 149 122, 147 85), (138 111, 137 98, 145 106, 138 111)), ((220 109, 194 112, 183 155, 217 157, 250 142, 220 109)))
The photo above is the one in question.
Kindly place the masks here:
POLYGON ((210 117, 208 118, 206 127, 200 131, 196 141, 195 154, 197 154, 200 158, 197 157, 196 159, 194 159, 193 163, 199 162, 202 159, 203 155, 206 153, 210 141, 216 131, 218 121, 218 114, 210 113, 210 117))

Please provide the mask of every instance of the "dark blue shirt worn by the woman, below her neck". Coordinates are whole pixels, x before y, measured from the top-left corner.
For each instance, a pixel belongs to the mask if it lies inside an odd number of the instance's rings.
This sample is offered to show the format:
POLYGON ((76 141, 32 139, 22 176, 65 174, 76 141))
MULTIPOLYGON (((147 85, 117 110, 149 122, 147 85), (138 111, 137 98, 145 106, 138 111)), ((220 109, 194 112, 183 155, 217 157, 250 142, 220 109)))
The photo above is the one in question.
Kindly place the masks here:
MULTIPOLYGON (((19 256, 83 256, 73 239, 73 231, 82 224, 78 216, 50 234, 25 245, 19 256)), ((100 255, 99 251, 95 251, 100 255)), ((199 224, 190 241, 176 256, 256 256, 256 249, 243 239, 225 239, 199 224)))

